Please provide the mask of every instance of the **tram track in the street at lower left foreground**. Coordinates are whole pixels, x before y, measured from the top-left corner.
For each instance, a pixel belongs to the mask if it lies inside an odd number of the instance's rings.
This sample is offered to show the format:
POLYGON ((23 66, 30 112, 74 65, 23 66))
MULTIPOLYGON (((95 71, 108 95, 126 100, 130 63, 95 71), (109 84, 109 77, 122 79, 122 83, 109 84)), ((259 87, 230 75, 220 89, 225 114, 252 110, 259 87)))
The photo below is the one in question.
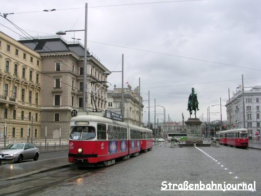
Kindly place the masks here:
POLYGON ((0 186, 0 195, 31 195, 46 188, 53 187, 70 180, 83 178, 86 175, 99 171, 102 168, 77 169, 76 166, 62 168, 46 173, 31 175, 24 178, 7 180, 0 186))

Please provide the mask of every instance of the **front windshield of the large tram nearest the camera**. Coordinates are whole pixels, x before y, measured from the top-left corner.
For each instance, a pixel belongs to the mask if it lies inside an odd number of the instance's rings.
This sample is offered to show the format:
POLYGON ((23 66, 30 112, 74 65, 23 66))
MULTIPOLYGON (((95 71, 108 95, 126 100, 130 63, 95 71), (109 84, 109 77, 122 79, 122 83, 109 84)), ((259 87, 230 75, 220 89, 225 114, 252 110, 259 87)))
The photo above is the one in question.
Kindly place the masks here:
POLYGON ((95 138, 94 127, 74 127, 70 133, 70 139, 88 140, 95 138))

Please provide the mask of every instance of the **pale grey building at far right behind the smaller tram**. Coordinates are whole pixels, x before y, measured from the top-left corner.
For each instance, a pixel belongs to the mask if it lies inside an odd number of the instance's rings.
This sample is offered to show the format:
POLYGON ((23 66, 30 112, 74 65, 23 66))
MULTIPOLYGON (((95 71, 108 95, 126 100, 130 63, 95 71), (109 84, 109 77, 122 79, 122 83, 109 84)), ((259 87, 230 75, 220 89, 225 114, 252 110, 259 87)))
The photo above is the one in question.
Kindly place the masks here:
POLYGON ((248 129, 249 136, 255 136, 260 131, 260 100, 261 86, 251 87, 250 90, 244 91, 244 100, 242 89, 239 89, 226 102, 227 122, 234 128, 244 127, 245 110, 245 127, 248 129), (243 101, 245 108, 243 108, 243 101))

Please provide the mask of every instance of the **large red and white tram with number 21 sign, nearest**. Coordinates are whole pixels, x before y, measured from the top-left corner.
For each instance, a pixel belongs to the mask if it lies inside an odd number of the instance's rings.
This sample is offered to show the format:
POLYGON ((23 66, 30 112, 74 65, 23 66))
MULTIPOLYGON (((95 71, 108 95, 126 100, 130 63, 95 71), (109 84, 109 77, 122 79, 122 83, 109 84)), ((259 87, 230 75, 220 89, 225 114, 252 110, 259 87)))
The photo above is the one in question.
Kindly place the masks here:
POLYGON ((152 130, 94 114, 70 120, 68 161, 79 165, 110 165, 151 150, 152 130))

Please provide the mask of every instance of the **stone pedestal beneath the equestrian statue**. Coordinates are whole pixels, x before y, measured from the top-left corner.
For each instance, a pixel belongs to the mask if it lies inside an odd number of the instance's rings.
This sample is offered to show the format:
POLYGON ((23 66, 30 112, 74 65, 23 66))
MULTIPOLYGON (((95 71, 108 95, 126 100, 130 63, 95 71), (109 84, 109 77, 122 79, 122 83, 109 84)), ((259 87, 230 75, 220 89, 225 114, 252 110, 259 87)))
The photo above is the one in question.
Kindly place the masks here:
POLYGON ((202 122, 198 118, 189 118, 185 124, 187 125, 187 134, 188 139, 186 140, 186 143, 193 144, 196 142, 196 144, 202 144, 203 140, 201 139, 201 131, 200 131, 200 125, 202 122))

